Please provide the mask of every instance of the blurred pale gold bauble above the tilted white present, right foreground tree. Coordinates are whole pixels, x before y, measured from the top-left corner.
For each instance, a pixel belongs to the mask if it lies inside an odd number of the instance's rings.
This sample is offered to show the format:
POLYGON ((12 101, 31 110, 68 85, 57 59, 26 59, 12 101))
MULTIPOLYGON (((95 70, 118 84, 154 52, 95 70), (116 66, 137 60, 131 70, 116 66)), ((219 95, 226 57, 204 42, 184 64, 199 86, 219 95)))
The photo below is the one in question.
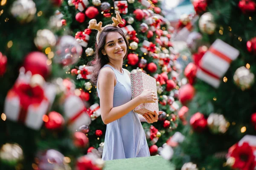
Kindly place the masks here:
POLYGON ((214 17, 210 12, 204 13, 199 19, 200 31, 206 34, 213 34, 216 28, 214 17))

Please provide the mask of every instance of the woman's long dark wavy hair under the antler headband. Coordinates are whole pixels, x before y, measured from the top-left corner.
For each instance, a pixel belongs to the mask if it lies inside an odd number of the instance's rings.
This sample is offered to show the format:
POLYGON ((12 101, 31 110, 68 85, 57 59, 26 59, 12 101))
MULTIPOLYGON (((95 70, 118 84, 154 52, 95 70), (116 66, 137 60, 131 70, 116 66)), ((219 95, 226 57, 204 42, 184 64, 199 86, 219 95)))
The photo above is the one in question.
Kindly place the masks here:
POLYGON ((94 59, 88 64, 90 66, 93 66, 93 72, 91 74, 91 79, 90 79, 90 81, 93 83, 93 85, 97 85, 97 78, 98 78, 100 69, 105 64, 107 64, 109 62, 108 56, 102 54, 102 49, 104 49, 105 43, 106 43, 106 36, 108 35, 109 32, 118 32, 119 34, 122 35, 122 37, 125 40, 126 47, 127 47, 124 59, 126 59, 126 57, 128 55, 128 46, 129 45, 128 45, 128 41, 126 40, 125 34, 122 31, 122 29, 119 27, 114 27, 114 26, 105 27, 103 29, 103 31, 101 32, 101 34, 99 35, 99 44, 96 45, 94 59))

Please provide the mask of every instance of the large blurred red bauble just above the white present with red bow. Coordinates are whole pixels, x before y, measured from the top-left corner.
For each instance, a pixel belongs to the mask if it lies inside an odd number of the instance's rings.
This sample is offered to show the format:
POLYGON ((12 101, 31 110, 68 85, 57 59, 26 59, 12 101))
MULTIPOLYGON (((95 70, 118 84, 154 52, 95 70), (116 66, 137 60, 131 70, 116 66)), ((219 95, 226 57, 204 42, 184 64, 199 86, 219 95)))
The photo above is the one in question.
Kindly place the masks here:
POLYGON ((47 56, 44 53, 34 51, 30 52, 24 59, 23 67, 32 74, 40 74, 44 79, 51 72, 51 65, 47 65, 47 56))

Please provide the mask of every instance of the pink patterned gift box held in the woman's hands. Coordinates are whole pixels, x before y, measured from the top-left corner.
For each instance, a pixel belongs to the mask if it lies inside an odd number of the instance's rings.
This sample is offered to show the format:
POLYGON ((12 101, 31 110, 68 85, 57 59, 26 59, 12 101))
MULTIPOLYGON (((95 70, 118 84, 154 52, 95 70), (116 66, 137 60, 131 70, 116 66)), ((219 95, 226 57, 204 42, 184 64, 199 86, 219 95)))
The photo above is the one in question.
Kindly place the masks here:
MULTIPOLYGON (((142 71, 131 74, 131 93, 132 98, 139 96, 144 90, 152 89, 157 95, 157 82, 154 77, 143 73, 142 71)), ((135 113, 141 115, 145 113, 151 113, 154 115, 154 111, 159 112, 158 102, 154 103, 142 103, 134 108, 135 113)))

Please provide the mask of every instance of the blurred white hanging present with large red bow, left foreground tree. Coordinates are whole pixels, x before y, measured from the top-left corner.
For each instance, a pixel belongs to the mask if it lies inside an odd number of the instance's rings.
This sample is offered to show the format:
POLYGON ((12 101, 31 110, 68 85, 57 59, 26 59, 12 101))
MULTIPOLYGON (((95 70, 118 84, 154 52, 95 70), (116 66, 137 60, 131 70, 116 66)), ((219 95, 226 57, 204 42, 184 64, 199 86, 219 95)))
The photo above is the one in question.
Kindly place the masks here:
POLYGON ((55 94, 55 85, 46 83, 39 74, 32 76, 30 71, 25 74, 22 67, 15 85, 5 99, 6 118, 38 130, 43 124, 43 116, 55 99, 55 94))

